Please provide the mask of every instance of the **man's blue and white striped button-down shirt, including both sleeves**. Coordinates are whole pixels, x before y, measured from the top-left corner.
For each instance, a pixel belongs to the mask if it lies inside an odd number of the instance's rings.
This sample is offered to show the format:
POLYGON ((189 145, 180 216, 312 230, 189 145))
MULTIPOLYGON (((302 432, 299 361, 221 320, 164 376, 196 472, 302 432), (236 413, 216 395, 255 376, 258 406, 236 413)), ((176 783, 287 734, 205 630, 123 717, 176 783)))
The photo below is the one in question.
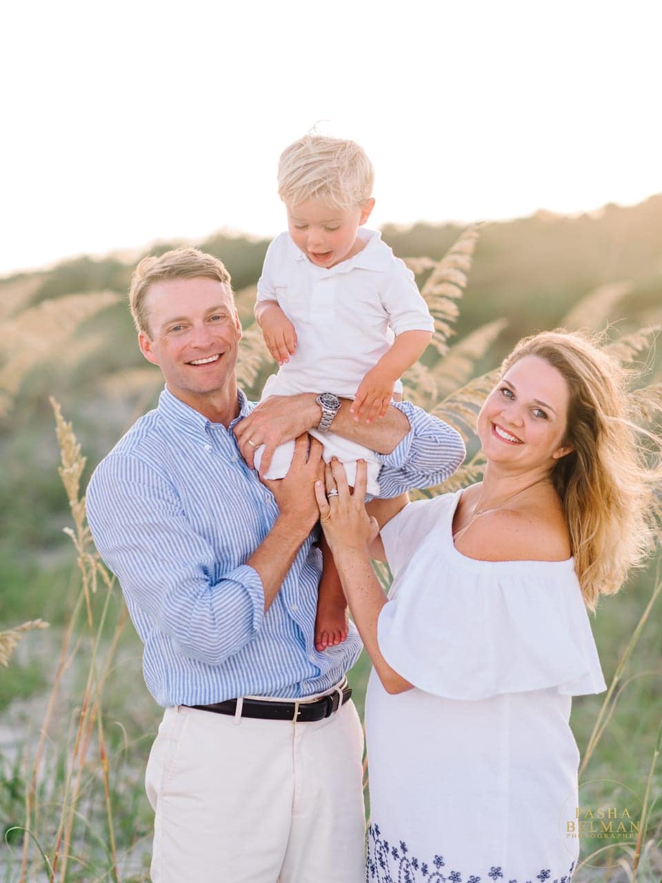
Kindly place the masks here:
MULTIPOLYGON (((232 426, 253 407, 241 392, 239 405, 226 429, 164 389, 87 488, 94 542, 122 586, 147 688, 162 706, 310 696, 337 683, 361 650, 353 625, 341 645, 318 653, 313 644, 319 531, 264 611, 260 576, 245 562, 278 509, 237 448, 232 426)), ((464 456, 454 429, 410 403, 396 407, 411 429, 380 457, 389 497, 439 484, 464 456)))

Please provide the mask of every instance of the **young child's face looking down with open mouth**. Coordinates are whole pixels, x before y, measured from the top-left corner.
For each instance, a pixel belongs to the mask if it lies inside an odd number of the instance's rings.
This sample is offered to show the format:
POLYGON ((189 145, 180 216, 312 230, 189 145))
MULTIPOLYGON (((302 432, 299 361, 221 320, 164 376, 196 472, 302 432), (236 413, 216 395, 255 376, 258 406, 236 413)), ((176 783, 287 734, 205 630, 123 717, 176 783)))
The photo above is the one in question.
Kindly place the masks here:
POLYGON ((357 231, 368 220, 373 205, 372 199, 351 209, 315 199, 296 206, 286 202, 290 236, 316 267, 335 267, 363 248, 357 231))

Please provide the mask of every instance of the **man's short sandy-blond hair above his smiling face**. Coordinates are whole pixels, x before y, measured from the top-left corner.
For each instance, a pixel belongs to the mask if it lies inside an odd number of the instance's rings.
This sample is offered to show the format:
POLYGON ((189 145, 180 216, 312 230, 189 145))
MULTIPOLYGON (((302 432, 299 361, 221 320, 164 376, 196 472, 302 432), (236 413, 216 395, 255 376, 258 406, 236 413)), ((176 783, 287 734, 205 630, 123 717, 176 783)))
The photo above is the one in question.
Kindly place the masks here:
POLYGON ((197 276, 225 283, 230 302, 235 306, 229 272, 213 254, 200 252, 197 248, 173 248, 159 257, 150 255, 143 258, 133 271, 129 289, 129 308, 136 328, 148 337, 151 334, 145 298, 152 283, 162 282, 163 279, 194 279, 197 276))

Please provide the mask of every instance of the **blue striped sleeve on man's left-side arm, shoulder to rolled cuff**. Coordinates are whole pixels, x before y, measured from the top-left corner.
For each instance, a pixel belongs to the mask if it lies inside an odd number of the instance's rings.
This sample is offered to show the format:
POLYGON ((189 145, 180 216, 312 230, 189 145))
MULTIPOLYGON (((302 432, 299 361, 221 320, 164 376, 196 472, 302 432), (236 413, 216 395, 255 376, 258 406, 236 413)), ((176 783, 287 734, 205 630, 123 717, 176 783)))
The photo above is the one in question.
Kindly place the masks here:
POLYGON ((94 543, 117 576, 134 622, 134 614, 147 617, 177 653, 210 665, 237 653, 260 631, 259 574, 242 564, 214 579, 214 550, 192 530, 177 491, 157 472, 107 457, 86 499, 94 543))

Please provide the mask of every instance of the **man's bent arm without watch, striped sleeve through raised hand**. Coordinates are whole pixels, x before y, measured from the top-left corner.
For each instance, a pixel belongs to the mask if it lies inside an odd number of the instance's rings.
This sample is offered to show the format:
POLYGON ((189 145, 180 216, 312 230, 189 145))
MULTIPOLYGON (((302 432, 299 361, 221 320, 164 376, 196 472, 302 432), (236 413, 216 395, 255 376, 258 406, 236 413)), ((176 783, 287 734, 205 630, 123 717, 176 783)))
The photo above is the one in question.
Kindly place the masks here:
POLYGON ((127 601, 184 656, 217 665, 257 634, 319 513, 313 483, 321 445, 297 442, 285 479, 268 482, 280 513, 246 561, 214 581, 218 560, 192 529, 177 492, 147 464, 107 457, 87 488, 87 518, 127 601))

